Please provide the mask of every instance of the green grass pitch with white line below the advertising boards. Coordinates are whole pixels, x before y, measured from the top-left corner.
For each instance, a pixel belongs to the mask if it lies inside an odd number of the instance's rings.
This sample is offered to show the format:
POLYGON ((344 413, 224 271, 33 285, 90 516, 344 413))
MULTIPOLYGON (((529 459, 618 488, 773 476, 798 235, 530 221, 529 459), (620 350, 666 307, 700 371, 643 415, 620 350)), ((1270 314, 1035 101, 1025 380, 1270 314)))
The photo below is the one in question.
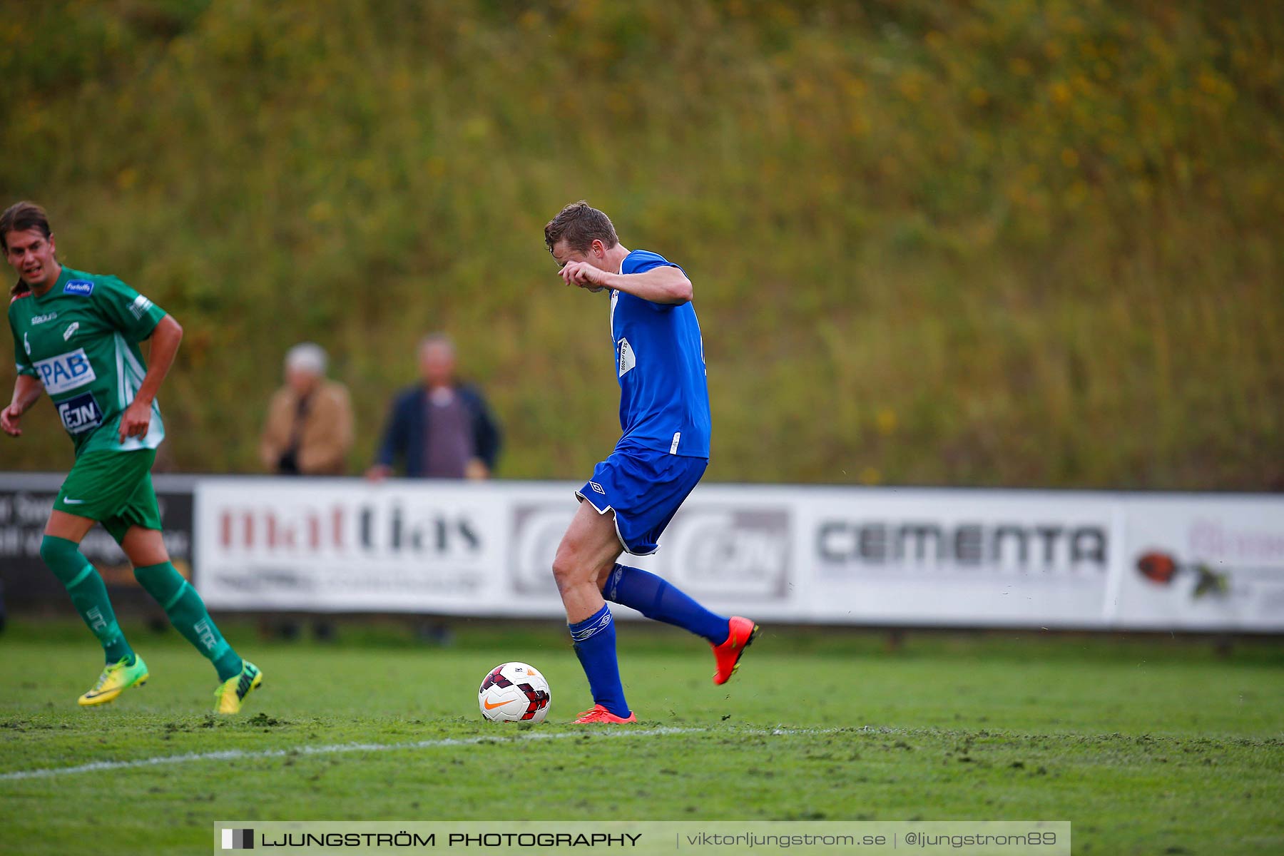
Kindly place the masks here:
MULTIPOLYGON (((130 630, 130 628, 127 628, 130 630)), ((1070 820, 1076 853, 1284 852, 1284 646, 764 634, 725 687, 707 647, 620 625, 637 726, 589 706, 556 628, 462 625, 448 647, 229 638, 265 671, 239 717, 176 634, 130 633, 150 683, 104 708, 82 628, 0 637, 0 850, 204 852, 214 820, 1070 820), (547 723, 482 721, 505 660, 547 723), (221 753, 208 757, 207 753, 221 753), (74 771, 94 762, 122 762, 74 771), (59 771, 62 770, 62 771, 59 771), (33 773, 40 771, 40 773, 33 773)), ((360 638, 357 638, 360 637, 360 638)))

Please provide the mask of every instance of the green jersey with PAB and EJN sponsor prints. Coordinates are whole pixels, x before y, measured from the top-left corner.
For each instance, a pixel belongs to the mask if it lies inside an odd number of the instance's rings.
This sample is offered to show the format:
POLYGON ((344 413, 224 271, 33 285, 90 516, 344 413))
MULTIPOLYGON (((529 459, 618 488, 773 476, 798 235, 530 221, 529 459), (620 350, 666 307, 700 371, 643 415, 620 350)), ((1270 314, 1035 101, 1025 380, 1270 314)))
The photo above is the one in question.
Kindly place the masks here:
POLYGON ((146 375, 139 343, 164 314, 114 276, 68 267, 42 296, 27 293, 9 302, 18 373, 45 385, 77 458, 160 445, 164 425, 157 403, 145 436, 122 443, 119 431, 121 416, 146 375))

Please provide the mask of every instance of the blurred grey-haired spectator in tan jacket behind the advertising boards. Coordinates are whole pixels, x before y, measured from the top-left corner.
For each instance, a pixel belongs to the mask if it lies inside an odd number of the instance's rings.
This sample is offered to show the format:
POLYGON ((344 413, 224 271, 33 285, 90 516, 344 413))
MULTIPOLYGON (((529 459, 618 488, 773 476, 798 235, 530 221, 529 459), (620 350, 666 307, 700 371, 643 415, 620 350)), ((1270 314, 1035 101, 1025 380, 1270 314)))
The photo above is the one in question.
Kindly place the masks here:
POLYGON ((285 386, 276 390, 258 454, 280 475, 342 475, 352 448, 348 389, 326 380, 326 353, 306 341, 285 354, 285 386))

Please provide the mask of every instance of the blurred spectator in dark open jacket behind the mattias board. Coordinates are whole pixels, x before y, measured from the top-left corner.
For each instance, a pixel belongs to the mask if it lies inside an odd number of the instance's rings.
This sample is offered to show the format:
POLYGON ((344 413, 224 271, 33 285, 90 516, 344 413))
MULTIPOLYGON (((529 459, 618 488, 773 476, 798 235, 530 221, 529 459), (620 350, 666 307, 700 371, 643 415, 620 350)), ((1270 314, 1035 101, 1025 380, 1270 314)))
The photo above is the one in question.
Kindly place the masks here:
POLYGON ((421 381, 393 400, 384 439, 366 476, 377 481, 397 462, 412 479, 485 479, 499 454, 499 427, 482 393, 455 377, 455 344, 444 334, 420 343, 421 381))

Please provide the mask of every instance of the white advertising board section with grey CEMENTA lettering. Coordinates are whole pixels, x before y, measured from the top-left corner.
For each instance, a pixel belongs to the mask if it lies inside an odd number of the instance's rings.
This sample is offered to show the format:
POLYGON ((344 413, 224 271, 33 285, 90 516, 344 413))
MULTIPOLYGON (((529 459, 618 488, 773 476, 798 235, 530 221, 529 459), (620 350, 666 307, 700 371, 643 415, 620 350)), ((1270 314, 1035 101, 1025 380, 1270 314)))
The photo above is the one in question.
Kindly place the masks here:
POLYGON ((1045 493, 809 490, 806 620, 1094 628, 1113 503, 1045 493))

